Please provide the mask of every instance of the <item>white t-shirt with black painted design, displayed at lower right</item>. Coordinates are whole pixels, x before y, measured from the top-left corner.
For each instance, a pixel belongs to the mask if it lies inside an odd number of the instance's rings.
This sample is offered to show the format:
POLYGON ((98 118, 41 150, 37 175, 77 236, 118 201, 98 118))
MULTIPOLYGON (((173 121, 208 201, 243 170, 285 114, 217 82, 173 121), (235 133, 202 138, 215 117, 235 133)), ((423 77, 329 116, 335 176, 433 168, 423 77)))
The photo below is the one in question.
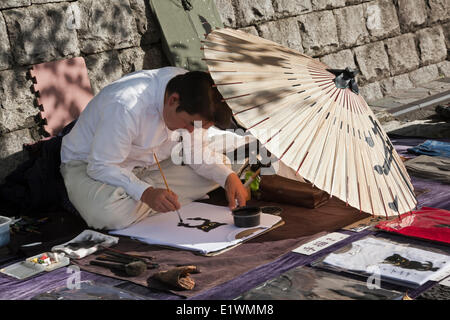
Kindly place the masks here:
POLYGON ((323 264, 416 287, 445 273, 450 256, 368 237, 353 242, 349 250, 329 254, 323 264))

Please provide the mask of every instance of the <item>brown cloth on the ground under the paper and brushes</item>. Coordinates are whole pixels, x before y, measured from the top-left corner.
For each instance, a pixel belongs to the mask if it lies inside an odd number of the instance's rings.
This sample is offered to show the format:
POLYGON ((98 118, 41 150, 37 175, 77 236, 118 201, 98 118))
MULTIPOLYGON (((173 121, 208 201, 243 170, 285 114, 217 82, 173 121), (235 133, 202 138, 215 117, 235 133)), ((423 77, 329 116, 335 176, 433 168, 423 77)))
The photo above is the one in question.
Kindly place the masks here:
MULTIPOLYGON (((226 205, 226 202, 216 202, 216 204, 226 205)), ((120 237, 119 243, 114 246, 115 249, 129 254, 152 256, 154 257, 153 262, 160 265, 157 269, 148 269, 138 277, 127 277, 117 271, 89 265, 89 261, 102 254, 102 251, 72 262, 86 271, 128 280, 184 297, 192 297, 232 280, 258 266, 270 263, 301 244, 324 235, 325 232, 336 231, 369 216, 368 214, 360 213, 359 210, 347 207, 344 202, 337 198, 330 199, 325 205, 316 209, 256 200, 251 200, 248 204, 257 206, 278 205, 283 209, 281 217, 285 224, 212 257, 196 255, 190 251, 152 246, 130 238, 120 237), (186 265, 194 265, 201 270, 200 273, 190 275, 195 281, 195 287, 192 290, 176 290, 152 278, 158 272, 186 265)))

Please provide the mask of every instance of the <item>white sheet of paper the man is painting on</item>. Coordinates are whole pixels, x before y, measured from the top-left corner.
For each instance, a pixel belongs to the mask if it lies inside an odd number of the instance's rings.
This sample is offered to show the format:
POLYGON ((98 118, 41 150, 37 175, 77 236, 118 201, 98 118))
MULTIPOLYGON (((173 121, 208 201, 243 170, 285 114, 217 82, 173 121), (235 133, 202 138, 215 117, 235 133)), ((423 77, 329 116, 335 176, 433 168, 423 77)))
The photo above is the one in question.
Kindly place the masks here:
POLYGON ((225 223, 208 232, 198 228, 178 226, 179 219, 175 211, 158 213, 150 216, 128 228, 111 231, 111 234, 129 236, 136 240, 156 245, 170 246, 180 249, 199 251, 202 254, 226 249, 250 237, 264 232, 281 220, 281 217, 261 214, 261 223, 257 227, 238 228, 234 225, 233 216, 228 207, 192 202, 180 210, 184 223, 191 226, 203 224, 203 220, 195 221, 189 218, 200 217, 211 222, 225 223), (256 229, 250 235, 236 239, 236 236, 247 230, 256 229))

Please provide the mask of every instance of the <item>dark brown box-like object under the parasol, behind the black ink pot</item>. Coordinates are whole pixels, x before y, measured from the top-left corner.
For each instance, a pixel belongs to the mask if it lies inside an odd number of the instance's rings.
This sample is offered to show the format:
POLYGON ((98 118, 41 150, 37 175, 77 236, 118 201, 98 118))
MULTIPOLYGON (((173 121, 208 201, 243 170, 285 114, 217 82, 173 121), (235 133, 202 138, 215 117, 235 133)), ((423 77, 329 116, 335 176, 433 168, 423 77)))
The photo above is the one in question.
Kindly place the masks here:
POLYGON ((259 190, 264 201, 276 201, 310 209, 323 206, 330 198, 328 193, 313 187, 312 183, 299 182, 278 175, 262 176, 259 190))

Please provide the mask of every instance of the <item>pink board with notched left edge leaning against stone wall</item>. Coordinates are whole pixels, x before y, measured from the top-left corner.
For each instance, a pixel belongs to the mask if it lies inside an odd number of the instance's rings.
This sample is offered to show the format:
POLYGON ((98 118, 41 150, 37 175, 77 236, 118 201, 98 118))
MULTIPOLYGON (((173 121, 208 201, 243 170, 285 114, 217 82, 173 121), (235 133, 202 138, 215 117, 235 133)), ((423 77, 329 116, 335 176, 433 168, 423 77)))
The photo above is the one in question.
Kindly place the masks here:
POLYGON ((94 96, 82 57, 37 64, 30 74, 44 129, 50 136, 78 118, 94 96))

